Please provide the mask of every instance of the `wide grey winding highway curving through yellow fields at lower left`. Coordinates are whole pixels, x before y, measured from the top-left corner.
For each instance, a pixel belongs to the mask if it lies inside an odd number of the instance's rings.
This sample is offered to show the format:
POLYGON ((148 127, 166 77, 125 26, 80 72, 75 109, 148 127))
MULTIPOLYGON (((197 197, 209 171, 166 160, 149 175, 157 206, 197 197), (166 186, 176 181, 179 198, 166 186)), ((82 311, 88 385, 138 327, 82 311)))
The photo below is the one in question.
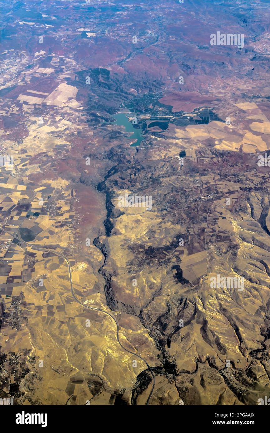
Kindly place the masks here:
POLYGON ((124 349, 124 350, 125 350, 126 352, 128 352, 128 353, 131 353, 131 354, 134 355, 134 356, 137 356, 137 358, 140 358, 140 359, 141 359, 143 362, 145 362, 145 364, 147 365, 147 368, 149 369, 149 371, 150 371, 150 373, 151 373, 151 375, 152 375, 152 377, 153 377, 152 389, 151 389, 151 392, 150 392, 150 394, 149 394, 149 396, 148 396, 148 398, 147 398, 147 401, 146 401, 146 405, 149 404, 150 398, 151 398, 151 396, 152 396, 152 394, 153 394, 153 391, 154 391, 154 388, 155 388, 155 375, 154 375, 154 373, 153 373, 152 368, 150 367, 150 365, 148 364, 148 362, 147 362, 145 359, 143 359, 140 355, 137 355, 137 353, 131 352, 130 350, 126 349, 126 348, 125 348, 125 347, 120 343, 120 340, 119 340, 119 328, 120 328, 120 327, 119 327, 119 323, 118 323, 117 319, 116 319, 116 318, 115 318, 111 313, 108 313, 107 311, 102 310, 101 308, 98 308, 98 307, 91 307, 90 305, 83 304, 83 303, 82 303, 82 302, 81 302, 81 301, 76 297, 76 295, 75 295, 75 293, 74 293, 73 285, 72 285, 72 275, 71 275, 71 267, 70 267, 70 263, 69 263, 68 259, 65 257, 65 255, 63 255, 61 252, 55 251, 54 249, 46 249, 46 248, 42 248, 42 246, 36 246, 35 244, 31 244, 31 243, 29 243, 29 242, 25 242, 25 241, 23 241, 23 239, 20 239, 20 238, 18 238, 17 236, 14 236, 12 233, 8 232, 6 229, 3 229, 3 227, 1 227, 1 230, 3 230, 5 233, 7 233, 8 235, 12 236, 13 238, 19 240, 20 242, 22 242, 22 243, 24 243, 24 244, 26 244, 26 245, 29 245, 31 248, 36 249, 37 251, 42 251, 42 252, 53 252, 54 254, 59 255, 59 257, 62 257, 62 259, 65 260, 65 262, 66 262, 67 265, 68 265, 68 274, 69 274, 70 288, 71 288, 71 293, 72 293, 72 297, 73 297, 74 301, 75 301, 75 302, 78 302, 78 304, 80 304, 80 305, 81 305, 82 307, 84 307, 84 308, 87 308, 88 310, 100 311, 101 313, 107 314, 107 316, 111 317, 111 319, 114 321, 114 323, 115 323, 115 325, 116 325, 116 338, 117 338, 118 343, 119 343, 120 346, 122 347, 122 349, 124 349))

